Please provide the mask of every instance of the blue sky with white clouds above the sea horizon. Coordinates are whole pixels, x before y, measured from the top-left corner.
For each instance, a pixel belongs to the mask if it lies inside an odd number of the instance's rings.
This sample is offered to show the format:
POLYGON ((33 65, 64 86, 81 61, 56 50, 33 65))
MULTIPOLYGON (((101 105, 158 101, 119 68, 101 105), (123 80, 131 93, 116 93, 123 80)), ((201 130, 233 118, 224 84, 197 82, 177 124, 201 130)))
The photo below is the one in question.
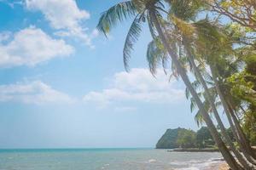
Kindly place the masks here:
POLYGON ((130 21, 96 31, 118 2, 0 0, 0 148, 154 147, 166 128, 197 129, 183 83, 148 72, 146 26, 130 73, 130 21))

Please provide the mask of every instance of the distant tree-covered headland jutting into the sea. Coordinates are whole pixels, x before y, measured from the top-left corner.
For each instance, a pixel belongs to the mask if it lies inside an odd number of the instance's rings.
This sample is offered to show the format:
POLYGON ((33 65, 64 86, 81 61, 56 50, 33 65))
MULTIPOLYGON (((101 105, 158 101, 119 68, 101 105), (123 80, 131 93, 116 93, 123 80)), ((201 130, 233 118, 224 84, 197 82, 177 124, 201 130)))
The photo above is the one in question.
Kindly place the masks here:
POLYGON ((157 149, 209 148, 214 146, 212 135, 207 127, 197 132, 185 128, 167 129, 156 144, 157 149))

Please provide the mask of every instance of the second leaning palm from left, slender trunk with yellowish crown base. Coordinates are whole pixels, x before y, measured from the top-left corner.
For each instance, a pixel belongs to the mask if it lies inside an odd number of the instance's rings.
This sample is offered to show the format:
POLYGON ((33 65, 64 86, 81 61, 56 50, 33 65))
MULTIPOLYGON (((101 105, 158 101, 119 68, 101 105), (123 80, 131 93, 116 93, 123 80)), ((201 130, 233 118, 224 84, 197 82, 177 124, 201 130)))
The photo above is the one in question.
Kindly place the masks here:
MULTIPOLYGON (((188 8, 183 8, 183 6, 189 6, 191 3, 188 1, 177 1, 177 0, 169 0, 169 2, 172 3, 172 8, 170 14, 172 16, 170 17, 172 21, 175 23, 175 26, 177 27, 177 31, 180 32, 181 35, 181 44, 183 45, 183 48, 185 49, 185 52, 187 53, 189 64, 192 66, 193 71, 195 72, 195 77, 201 82, 202 87, 205 89, 205 99, 207 100, 207 104, 211 105, 211 109, 213 111, 213 115, 215 116, 218 126, 221 129, 221 133, 224 136, 224 139, 227 141, 227 143, 230 145, 231 150, 235 153, 237 159, 241 162, 241 164, 244 167, 251 168, 253 167, 252 164, 247 162, 242 156, 239 150, 236 150, 235 145, 232 143, 230 136, 225 130, 224 124, 220 119, 220 116, 218 115, 218 111, 216 109, 216 106, 214 104, 214 100, 212 98, 212 95, 209 92, 209 89, 207 87, 207 83, 205 82, 204 78, 201 75, 201 71, 197 68, 195 65, 195 59, 193 54, 193 49, 191 48, 191 45, 193 46, 193 38, 194 38, 194 29, 189 23, 186 23, 185 21, 191 19, 193 16, 193 13, 190 13, 189 15, 186 15, 188 13, 188 8), (180 5, 180 3, 182 5, 180 5), (187 4, 187 5, 186 5, 187 4), (186 28, 187 27, 187 28, 186 28), (248 165, 249 164, 249 165, 248 165)), ((195 8, 194 8, 195 9, 195 8)), ((193 10, 195 14, 195 10, 193 10)), ((198 26, 201 23, 195 23, 195 26, 198 26)), ((208 30, 207 30, 208 31, 208 30)), ((206 33, 206 32, 204 32, 206 33)), ((212 35, 211 35, 212 36, 212 35)), ((209 41, 212 42, 212 41, 209 41)), ((226 47, 229 48, 229 47, 226 47)), ((211 51, 211 49, 209 49, 211 51)), ((230 115, 227 115, 230 120, 230 115)), ((230 125, 232 126, 232 122, 230 122, 230 125)))

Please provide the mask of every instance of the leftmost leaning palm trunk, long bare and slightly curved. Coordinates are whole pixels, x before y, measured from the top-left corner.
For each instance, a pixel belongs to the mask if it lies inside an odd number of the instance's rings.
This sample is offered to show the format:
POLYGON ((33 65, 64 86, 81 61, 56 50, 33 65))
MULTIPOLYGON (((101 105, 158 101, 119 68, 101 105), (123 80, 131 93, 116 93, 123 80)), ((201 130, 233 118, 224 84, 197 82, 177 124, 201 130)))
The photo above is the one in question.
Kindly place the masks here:
POLYGON ((220 150, 220 152, 224 156, 224 160, 227 161, 227 163, 229 164, 229 166, 233 170, 240 170, 241 167, 237 164, 234 157, 230 154, 230 151, 228 150, 228 148, 224 144, 223 140, 218 136, 218 131, 217 131, 216 127, 214 126, 214 124, 211 120, 211 117, 207 114, 207 111, 205 110, 204 105, 201 102, 201 99, 199 98, 195 89, 191 85, 191 82, 189 81, 189 77, 187 76, 185 69, 183 68, 183 66, 178 61, 177 54, 175 54, 172 51, 172 48, 168 44, 168 41, 166 40, 166 37, 164 35, 164 32, 162 31, 162 28, 160 26, 160 22, 157 19, 156 14, 154 13, 154 11, 149 11, 149 15, 150 15, 150 17, 152 18, 152 20, 154 22, 154 26, 156 27, 156 30, 159 33, 160 39, 163 42, 164 47, 166 48, 168 54, 172 58, 172 62, 177 67, 178 73, 182 77, 183 82, 185 83, 186 87, 189 89, 189 92, 192 94, 193 98, 195 99, 196 105, 198 105, 198 107, 201 109, 202 116, 203 116, 205 122, 207 123, 207 127, 209 128, 209 130, 212 134, 212 138, 214 139, 214 141, 218 145, 218 149, 220 150))

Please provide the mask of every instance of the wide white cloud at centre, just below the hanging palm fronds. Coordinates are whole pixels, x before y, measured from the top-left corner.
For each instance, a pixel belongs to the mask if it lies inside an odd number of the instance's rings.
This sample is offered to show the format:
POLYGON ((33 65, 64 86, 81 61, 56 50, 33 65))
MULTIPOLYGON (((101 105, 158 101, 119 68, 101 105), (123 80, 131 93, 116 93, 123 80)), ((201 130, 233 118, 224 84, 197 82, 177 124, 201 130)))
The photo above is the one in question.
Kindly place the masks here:
POLYGON ((184 99, 183 89, 177 88, 174 80, 169 82, 163 71, 158 72, 157 78, 147 69, 116 73, 110 88, 85 94, 84 101, 106 106, 124 101, 170 104, 184 99))

